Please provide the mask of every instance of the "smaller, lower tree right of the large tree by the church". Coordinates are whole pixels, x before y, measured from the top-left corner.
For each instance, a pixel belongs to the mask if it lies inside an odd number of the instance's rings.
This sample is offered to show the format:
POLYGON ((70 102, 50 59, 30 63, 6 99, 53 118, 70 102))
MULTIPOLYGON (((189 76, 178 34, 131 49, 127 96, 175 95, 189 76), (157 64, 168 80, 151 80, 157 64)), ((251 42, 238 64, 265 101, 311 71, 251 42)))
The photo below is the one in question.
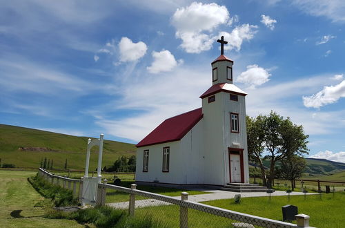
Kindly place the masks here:
POLYGON ((300 178, 304 169, 306 168, 306 160, 298 155, 291 155, 282 160, 282 165, 279 167, 282 178, 291 181, 292 190, 295 189, 295 179, 300 178))

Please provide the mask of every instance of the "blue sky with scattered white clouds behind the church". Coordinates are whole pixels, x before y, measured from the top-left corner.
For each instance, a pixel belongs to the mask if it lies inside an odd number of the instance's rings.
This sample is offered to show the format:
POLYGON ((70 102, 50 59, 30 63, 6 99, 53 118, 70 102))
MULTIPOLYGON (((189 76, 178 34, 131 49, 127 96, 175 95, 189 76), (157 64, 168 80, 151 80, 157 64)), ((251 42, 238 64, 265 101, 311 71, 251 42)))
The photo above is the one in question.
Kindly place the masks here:
POLYGON ((229 41, 247 114, 302 124, 345 162, 345 2, 1 1, 0 123, 139 142, 201 106, 229 41))

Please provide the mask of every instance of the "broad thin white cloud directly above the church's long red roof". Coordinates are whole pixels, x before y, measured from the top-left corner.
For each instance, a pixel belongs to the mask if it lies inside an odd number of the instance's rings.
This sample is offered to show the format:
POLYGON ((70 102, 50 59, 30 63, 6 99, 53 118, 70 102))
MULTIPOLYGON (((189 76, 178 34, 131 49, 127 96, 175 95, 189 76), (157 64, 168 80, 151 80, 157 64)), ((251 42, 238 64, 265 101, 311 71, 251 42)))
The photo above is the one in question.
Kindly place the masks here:
POLYGON ((199 96, 212 84, 206 69, 186 70, 177 66, 173 73, 159 77, 148 74, 140 80, 132 80, 131 86, 119 86, 121 99, 100 110, 116 107, 117 110, 132 110, 138 114, 114 120, 106 117, 105 113, 97 113, 96 123, 106 129, 107 134, 139 142, 166 118, 201 106, 199 96))

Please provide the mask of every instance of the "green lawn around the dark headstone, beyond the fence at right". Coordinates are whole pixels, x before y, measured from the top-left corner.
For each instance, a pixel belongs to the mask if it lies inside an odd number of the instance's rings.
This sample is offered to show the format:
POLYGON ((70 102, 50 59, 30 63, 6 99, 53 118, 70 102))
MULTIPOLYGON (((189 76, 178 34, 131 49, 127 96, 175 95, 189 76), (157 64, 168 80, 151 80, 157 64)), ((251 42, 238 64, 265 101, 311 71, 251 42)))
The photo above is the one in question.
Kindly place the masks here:
POLYGON ((290 201, 286 196, 275 196, 272 197, 271 202, 268 202, 268 197, 242 198, 239 205, 233 200, 213 200, 203 203, 274 220, 282 220, 282 206, 295 205, 298 207, 298 213, 311 216, 312 227, 345 227, 345 193, 335 193, 334 198, 332 193, 322 194, 322 200, 318 195, 312 195, 307 196, 306 200, 304 196, 291 196, 290 201))

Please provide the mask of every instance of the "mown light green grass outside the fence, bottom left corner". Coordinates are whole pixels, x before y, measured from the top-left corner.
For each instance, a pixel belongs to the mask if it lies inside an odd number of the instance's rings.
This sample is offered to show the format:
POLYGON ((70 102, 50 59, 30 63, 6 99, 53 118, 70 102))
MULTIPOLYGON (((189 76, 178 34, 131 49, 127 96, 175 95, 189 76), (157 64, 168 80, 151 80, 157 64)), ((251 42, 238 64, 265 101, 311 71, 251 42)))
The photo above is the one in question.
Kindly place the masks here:
POLYGON ((84 227, 73 220, 42 217, 45 209, 34 205, 43 197, 27 180, 36 173, 0 171, 0 227, 84 227))

